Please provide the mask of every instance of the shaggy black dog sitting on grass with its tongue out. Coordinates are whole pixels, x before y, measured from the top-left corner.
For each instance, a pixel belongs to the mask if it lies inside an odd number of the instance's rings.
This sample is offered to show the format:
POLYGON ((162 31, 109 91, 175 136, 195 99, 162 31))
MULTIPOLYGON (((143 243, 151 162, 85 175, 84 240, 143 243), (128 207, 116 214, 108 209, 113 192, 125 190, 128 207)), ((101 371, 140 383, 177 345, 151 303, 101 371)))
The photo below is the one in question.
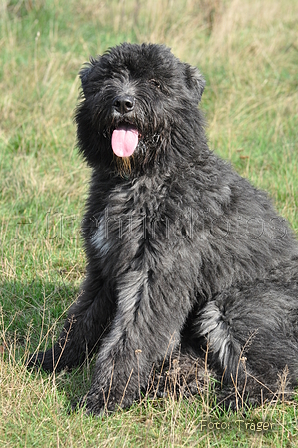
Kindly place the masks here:
POLYGON ((206 356, 252 401, 285 369, 294 385, 298 245, 266 194, 208 149, 202 75, 164 46, 123 44, 80 76, 87 274, 31 364, 71 368, 98 350, 83 400, 94 414, 131 405, 173 352, 206 356))

